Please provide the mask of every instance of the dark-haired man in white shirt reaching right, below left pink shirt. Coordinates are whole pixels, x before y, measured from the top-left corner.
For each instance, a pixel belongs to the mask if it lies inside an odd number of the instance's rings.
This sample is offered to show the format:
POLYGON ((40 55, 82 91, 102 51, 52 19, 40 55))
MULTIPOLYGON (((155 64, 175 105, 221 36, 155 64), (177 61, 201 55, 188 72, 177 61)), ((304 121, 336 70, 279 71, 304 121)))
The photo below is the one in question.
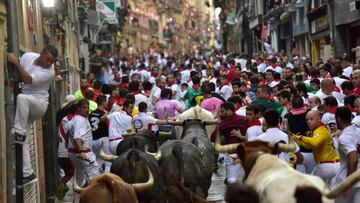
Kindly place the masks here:
POLYGON ((165 120, 156 119, 151 114, 148 114, 147 104, 145 102, 139 104, 139 112, 140 113, 133 118, 134 128, 137 132, 142 130, 155 132, 158 131, 157 125, 166 124, 165 120))

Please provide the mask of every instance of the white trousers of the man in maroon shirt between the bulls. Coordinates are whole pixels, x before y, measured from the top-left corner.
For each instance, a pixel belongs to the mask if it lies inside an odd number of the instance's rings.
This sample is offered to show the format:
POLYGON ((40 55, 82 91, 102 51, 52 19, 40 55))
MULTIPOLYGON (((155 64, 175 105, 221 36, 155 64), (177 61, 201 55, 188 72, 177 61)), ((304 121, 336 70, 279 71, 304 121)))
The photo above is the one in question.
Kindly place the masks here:
POLYGON ((226 166, 226 180, 228 183, 241 182, 245 176, 245 171, 241 164, 234 164, 234 160, 224 155, 226 166))

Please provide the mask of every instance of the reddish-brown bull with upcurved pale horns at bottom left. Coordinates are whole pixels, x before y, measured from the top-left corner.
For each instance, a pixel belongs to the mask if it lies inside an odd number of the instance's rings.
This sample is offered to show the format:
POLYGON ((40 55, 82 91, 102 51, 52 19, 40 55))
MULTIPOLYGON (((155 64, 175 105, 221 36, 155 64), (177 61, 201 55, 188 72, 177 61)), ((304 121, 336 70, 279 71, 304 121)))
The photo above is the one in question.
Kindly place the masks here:
POLYGON ((145 183, 128 184, 119 176, 106 173, 96 176, 86 188, 81 188, 74 180, 74 191, 80 193, 80 203, 138 203, 136 192, 153 187, 154 178, 150 169, 145 183))

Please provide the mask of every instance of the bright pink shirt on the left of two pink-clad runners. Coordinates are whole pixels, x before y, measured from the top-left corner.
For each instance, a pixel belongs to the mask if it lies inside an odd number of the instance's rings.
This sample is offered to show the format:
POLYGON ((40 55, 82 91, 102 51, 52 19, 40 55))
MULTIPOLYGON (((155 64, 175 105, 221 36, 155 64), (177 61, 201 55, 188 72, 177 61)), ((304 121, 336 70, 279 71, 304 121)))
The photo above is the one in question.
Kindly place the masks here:
POLYGON ((165 113, 168 117, 174 117, 175 111, 181 110, 181 103, 175 100, 162 99, 155 104, 155 111, 158 119, 165 119, 165 113))

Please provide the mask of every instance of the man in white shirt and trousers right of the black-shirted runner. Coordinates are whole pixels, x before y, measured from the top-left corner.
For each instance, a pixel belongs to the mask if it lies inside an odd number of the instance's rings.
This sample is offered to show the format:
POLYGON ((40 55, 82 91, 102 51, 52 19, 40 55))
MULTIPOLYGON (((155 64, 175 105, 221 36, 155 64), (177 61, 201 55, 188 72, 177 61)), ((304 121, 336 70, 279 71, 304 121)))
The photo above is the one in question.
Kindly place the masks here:
POLYGON ((109 120, 109 145, 112 154, 116 154, 117 145, 124 139, 123 135, 130 133, 133 128, 131 116, 133 110, 134 102, 126 100, 123 111, 114 112, 105 117, 109 120))

